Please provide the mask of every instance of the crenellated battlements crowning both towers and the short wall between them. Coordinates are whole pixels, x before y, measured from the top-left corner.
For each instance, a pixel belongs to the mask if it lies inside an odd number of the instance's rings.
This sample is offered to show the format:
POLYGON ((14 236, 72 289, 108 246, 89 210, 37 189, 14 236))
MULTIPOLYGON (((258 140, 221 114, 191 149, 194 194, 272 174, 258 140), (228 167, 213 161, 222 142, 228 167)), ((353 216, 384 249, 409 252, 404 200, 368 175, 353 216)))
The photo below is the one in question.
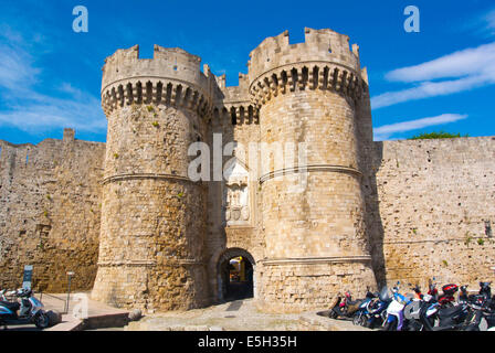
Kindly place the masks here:
MULTIPOLYGON (((305 29, 305 42, 289 44, 288 32, 265 39, 250 54, 247 74, 239 86, 227 87, 201 58, 179 47, 155 45, 152 58, 139 58, 139 46, 118 50, 105 60, 102 106, 106 115, 131 104, 167 104, 212 113, 252 106, 257 109, 278 94, 295 89, 333 89, 359 99, 367 92, 359 47, 329 29, 305 29)), ((236 114, 242 116, 240 111, 236 114)), ((233 118, 236 120, 236 118, 233 118)))

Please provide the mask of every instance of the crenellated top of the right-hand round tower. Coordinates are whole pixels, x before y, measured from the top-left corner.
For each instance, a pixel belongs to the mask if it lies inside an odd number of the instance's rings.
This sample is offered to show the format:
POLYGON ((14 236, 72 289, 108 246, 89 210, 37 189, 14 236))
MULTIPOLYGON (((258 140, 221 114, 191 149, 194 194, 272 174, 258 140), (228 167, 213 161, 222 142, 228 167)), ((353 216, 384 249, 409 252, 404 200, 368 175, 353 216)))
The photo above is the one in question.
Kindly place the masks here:
POLYGON ((288 31, 265 39, 250 54, 249 79, 255 106, 295 89, 334 89, 358 99, 367 89, 359 46, 329 29, 305 29, 305 42, 289 44, 288 31))

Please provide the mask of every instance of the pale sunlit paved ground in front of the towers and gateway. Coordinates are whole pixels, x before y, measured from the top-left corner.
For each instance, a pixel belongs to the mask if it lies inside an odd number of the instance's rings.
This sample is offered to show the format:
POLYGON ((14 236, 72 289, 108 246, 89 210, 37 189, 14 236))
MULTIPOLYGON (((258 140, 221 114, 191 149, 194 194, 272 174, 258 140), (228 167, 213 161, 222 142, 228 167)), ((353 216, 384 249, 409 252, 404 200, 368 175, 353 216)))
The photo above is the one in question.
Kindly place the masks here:
MULTIPOLYGON (((40 296, 36 296, 36 298, 40 299, 40 296)), ((56 310, 62 313, 65 310, 66 298, 66 295, 43 295, 41 300, 46 311, 56 310)), ((104 320, 105 317, 128 312, 89 300, 88 293, 71 295, 69 313, 62 315, 63 324, 60 330, 65 330, 64 325, 65 328, 70 328, 74 322, 78 322, 74 315, 81 317, 82 311, 85 311, 88 317, 103 318, 104 320)), ((318 317, 314 312, 306 312, 303 314, 264 313, 257 310, 253 299, 244 299, 203 309, 146 314, 141 320, 130 322, 125 328, 110 327, 96 329, 94 331, 297 331, 302 329, 302 321, 306 321, 310 327, 316 325, 318 329, 323 330, 367 330, 360 327, 355 327, 350 321, 331 320, 318 317)), ((486 322, 484 320, 482 321, 480 329, 482 331, 486 330, 486 322)), ((9 330, 40 331, 34 324, 10 325, 9 330)), ((49 330, 53 330, 53 328, 49 330)))

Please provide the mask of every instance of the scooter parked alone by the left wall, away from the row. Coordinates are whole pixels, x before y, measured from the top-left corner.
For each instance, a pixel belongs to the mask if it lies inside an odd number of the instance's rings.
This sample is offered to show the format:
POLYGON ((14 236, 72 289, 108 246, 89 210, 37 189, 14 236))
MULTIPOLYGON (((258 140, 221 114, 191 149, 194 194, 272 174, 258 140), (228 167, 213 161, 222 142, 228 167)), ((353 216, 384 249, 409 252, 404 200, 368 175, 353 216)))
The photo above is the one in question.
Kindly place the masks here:
POLYGON ((15 296, 20 298, 20 302, 0 301, 0 325, 6 330, 8 324, 34 323, 39 329, 49 327, 50 319, 42 302, 33 297, 32 290, 19 289, 15 296))

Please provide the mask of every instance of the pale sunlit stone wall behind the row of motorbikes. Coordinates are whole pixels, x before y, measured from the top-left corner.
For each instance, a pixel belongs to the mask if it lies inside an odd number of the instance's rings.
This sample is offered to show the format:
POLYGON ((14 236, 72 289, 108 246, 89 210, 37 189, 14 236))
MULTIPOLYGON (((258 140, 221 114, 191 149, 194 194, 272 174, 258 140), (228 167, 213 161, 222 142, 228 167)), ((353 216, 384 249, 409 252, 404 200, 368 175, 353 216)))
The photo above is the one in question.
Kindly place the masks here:
POLYGON ((494 160, 495 137, 375 142, 368 211, 379 214, 370 232, 381 280, 423 290, 432 277, 472 289, 495 280, 494 160))

